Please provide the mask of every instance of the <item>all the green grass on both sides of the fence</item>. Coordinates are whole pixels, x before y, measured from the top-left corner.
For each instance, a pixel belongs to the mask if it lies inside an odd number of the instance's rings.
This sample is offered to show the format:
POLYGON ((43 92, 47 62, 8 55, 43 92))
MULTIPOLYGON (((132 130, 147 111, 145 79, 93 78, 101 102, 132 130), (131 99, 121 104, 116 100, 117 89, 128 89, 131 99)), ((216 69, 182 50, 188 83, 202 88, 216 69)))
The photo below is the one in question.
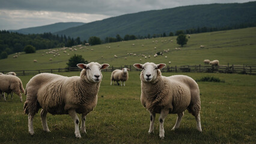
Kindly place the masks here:
MULTIPOLYGON (((221 65, 256 65, 256 28, 192 34, 186 46, 179 47, 176 37, 134 40, 120 43, 87 46, 78 51, 66 50, 70 55, 82 55, 87 61, 108 63, 114 67, 147 61, 171 65, 203 64, 204 59, 219 59, 221 65), (153 41, 158 41, 156 44, 153 41), (166 40, 166 41, 165 41, 166 40), (171 42, 173 40, 173 42, 171 42), (163 41, 163 42, 161 42, 163 41), (135 46, 132 46, 132 44, 135 46), (141 45, 144 44, 144 47, 141 45), (200 45, 205 47, 202 49, 200 45), (108 48, 107 48, 108 47, 108 48), (109 48, 110 47, 110 48, 109 48), (157 47, 156 50, 154 47, 157 47), (87 48, 89 50, 87 50, 87 48), (91 51, 94 49, 94 51, 91 51), (169 49, 164 56, 153 58, 154 53, 169 49), (128 56, 136 53, 137 56, 128 56), (138 56, 151 55, 150 59, 138 56), (114 55, 118 58, 115 59, 114 55), (103 58, 101 58, 103 56, 103 58), (127 59, 124 59, 127 57, 127 59), (142 61, 139 61, 142 59, 142 61)), ((57 50, 59 48, 56 48, 57 50)), ((70 56, 46 55, 48 50, 21 53, 0 60, 1 71, 42 70, 64 68, 70 56), (41 54, 44 53, 44 56, 41 54), (49 61, 52 58, 53 61, 49 61), (33 62, 37 59, 38 62, 33 62)), ((165 119, 165 139, 159 139, 159 122, 156 115, 154 134, 148 134, 150 114, 140 102, 141 82, 139 71, 129 72, 126 86, 111 86, 111 72, 103 72, 96 108, 87 115, 87 134, 75 138, 75 127, 69 115, 47 115, 50 133, 43 131, 40 111, 34 117, 34 136, 28 134, 28 116, 23 112, 23 102, 17 95, 11 100, 0 100, 0 143, 255 143, 256 141, 256 77, 245 74, 223 73, 162 73, 163 76, 184 74, 193 79, 213 76, 225 82, 198 82, 201 97, 202 133, 196 129, 194 116, 184 113, 180 128, 171 131, 177 115, 165 119)), ((79 72, 56 73, 79 76, 79 72)), ((25 88, 31 76, 19 76, 25 88)), ((81 115, 79 115, 81 120, 81 115)), ((81 122, 81 121, 80 121, 81 122)))

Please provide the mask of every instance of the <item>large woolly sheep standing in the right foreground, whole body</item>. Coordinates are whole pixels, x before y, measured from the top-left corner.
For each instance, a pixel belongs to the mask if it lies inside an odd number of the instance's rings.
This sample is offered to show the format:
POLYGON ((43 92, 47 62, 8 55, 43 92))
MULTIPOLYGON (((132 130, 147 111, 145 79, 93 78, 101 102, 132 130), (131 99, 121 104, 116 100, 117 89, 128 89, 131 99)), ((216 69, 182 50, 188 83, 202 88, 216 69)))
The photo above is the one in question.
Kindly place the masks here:
POLYGON ((154 133, 154 119, 156 113, 160 113, 159 136, 165 137, 163 122, 168 113, 177 113, 177 121, 172 130, 180 126, 184 110, 188 110, 195 116, 197 130, 202 131, 200 122, 200 92, 195 80, 188 76, 175 75, 162 76, 160 69, 165 64, 145 63, 134 64, 141 71, 141 103, 150 112, 150 129, 148 133, 154 133))

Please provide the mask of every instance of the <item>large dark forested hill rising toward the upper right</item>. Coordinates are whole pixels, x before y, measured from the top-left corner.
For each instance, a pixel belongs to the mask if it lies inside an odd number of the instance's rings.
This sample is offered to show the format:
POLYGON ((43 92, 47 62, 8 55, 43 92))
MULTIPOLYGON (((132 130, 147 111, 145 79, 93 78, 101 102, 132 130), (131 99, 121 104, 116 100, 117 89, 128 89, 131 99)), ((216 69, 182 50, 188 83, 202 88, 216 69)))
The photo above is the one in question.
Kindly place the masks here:
POLYGON ((80 37, 88 40, 91 36, 102 38, 120 34, 142 35, 169 34, 180 29, 207 26, 221 28, 244 23, 256 23, 256 2, 242 4, 207 4, 168 8, 164 10, 142 11, 124 14, 109 19, 86 23, 81 26, 55 32, 59 35, 80 37))

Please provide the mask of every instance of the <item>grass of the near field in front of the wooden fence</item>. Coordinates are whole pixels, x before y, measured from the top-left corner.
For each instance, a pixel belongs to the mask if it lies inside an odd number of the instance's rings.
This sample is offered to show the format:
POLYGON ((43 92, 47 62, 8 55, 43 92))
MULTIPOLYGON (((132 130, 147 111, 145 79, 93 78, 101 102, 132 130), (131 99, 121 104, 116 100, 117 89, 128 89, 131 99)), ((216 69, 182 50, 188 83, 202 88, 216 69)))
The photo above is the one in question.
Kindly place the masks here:
MULTIPOLYGON (((79 76, 79 72, 57 73, 79 76)), ((34 136, 28 134, 28 116, 17 95, 0 101, 0 143, 255 143, 255 76, 221 73, 184 74, 193 79, 218 77, 225 82, 198 82, 201 97, 202 133, 196 121, 184 113, 180 128, 171 131, 177 115, 165 119, 165 139, 159 138, 159 122, 148 134, 150 115, 140 102, 139 71, 129 73, 126 86, 111 86, 111 72, 103 72, 96 108, 87 115, 87 134, 75 138, 74 124, 68 115, 47 115, 50 133, 43 131, 40 112, 34 118, 34 136)), ((25 88, 32 76, 19 76, 25 88)), ((25 96, 23 95, 23 102, 25 96)), ((81 120, 81 115, 79 115, 81 120)), ((156 115, 156 119, 159 115, 156 115)))

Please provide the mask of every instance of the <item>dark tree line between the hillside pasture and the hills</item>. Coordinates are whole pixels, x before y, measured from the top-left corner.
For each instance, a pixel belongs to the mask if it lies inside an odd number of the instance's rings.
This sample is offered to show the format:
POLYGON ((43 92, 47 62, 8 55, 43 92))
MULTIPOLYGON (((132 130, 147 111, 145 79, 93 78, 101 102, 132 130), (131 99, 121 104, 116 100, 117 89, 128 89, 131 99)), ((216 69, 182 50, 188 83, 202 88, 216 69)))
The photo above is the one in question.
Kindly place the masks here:
MULTIPOLYGON (((102 44, 102 43, 113 43, 118 41, 128 41, 128 40, 136 40, 136 39, 145 39, 145 38, 157 38, 157 37, 172 37, 174 35, 180 34, 198 34, 201 32, 213 32, 213 31, 225 31, 229 29, 240 29, 240 28, 248 28, 256 26, 256 23, 242 23, 240 25, 230 25, 219 28, 212 27, 198 27, 198 28, 190 28, 184 30, 178 30, 175 33, 163 32, 163 34, 148 34, 145 36, 141 35, 129 35, 126 34, 122 38, 119 34, 115 37, 106 37, 105 40, 101 40, 99 37, 93 36, 90 37, 88 43, 90 45, 102 44)), ((182 41, 187 41, 186 37, 183 36, 182 41)), ((86 40, 81 41, 79 37, 71 38, 66 37, 66 35, 54 35, 49 33, 44 34, 19 34, 17 32, 9 32, 9 31, 0 31, 0 59, 7 58, 11 53, 23 52, 26 46, 33 46, 36 50, 40 49, 51 49, 53 47, 71 47, 77 44, 85 44, 86 40)), ((178 43, 179 44, 179 43, 178 43)), ((186 44, 186 43, 184 43, 186 44)), ((183 46, 184 44, 181 44, 183 46)))

